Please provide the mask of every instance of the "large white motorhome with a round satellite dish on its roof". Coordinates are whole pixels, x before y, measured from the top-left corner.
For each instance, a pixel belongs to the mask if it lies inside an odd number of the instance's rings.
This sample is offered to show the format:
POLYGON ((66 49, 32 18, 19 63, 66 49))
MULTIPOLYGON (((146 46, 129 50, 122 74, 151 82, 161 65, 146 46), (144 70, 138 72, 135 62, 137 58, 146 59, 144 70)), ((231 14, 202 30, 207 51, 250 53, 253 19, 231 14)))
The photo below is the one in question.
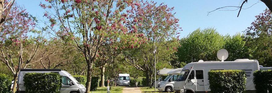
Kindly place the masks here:
POLYGON ((174 83, 174 92, 176 93, 205 93, 210 91, 208 72, 210 70, 244 70, 246 72, 246 91, 254 93, 253 72, 260 70, 257 60, 237 59, 234 61, 224 61, 228 53, 217 53, 217 57, 222 61, 203 61, 186 64, 177 81, 174 83), (218 55, 221 54, 221 55, 218 55))

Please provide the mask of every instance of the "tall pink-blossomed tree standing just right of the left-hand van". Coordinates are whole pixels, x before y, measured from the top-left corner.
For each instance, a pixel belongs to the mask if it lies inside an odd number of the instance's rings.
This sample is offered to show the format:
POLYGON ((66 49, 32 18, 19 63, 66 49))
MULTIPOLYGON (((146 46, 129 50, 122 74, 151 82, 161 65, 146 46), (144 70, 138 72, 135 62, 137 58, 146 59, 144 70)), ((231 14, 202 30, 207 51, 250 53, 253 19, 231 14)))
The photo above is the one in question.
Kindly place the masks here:
MULTIPOLYGON (((74 42, 87 63, 87 93, 90 93, 91 75, 99 49, 105 44, 111 47, 134 48, 146 38, 130 33, 126 26, 125 10, 134 0, 45 0, 44 17, 48 33, 67 42, 74 42), (138 40, 138 42, 135 40, 138 40)), ((99 63, 97 63, 99 64, 99 63)))

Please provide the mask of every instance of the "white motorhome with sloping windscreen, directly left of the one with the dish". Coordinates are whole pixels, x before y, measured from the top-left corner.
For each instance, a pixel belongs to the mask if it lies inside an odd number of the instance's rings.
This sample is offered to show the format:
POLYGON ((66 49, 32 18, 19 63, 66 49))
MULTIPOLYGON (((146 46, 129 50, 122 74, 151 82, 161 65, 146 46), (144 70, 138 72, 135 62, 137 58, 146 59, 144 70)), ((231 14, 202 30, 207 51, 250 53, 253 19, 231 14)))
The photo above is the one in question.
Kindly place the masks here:
POLYGON ((178 74, 181 73, 182 68, 169 71, 169 74, 163 81, 158 84, 159 91, 172 92, 174 83, 177 80, 178 74))

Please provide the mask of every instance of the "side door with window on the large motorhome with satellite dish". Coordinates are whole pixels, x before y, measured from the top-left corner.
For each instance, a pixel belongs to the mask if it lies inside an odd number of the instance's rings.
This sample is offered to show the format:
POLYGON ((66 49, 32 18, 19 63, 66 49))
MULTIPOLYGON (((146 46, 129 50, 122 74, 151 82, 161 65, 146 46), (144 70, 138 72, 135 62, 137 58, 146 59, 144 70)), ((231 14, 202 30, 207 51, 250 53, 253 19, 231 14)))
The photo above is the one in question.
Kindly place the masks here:
POLYGON ((197 91, 205 91, 205 83, 204 83, 204 71, 203 70, 195 70, 196 72, 196 82, 197 82, 197 91))

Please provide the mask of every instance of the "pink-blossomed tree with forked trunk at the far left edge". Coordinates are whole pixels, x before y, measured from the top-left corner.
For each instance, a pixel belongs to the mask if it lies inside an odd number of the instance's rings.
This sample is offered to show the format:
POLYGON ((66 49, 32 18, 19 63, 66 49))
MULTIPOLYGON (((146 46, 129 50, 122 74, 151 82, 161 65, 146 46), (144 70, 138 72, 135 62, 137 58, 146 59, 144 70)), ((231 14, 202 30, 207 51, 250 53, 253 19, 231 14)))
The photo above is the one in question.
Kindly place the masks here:
MULTIPOLYGON (((12 6, 10 11, 6 11, 7 19, 1 26, 0 33, 0 61, 6 64, 14 77, 13 93, 16 91, 17 78, 20 69, 27 68, 28 65, 38 62, 42 56, 36 56, 43 39, 41 37, 28 37, 28 33, 36 33, 34 30, 36 23, 32 20, 28 12, 19 6, 12 6)), ((4 14, 5 14, 4 13, 4 14)))

